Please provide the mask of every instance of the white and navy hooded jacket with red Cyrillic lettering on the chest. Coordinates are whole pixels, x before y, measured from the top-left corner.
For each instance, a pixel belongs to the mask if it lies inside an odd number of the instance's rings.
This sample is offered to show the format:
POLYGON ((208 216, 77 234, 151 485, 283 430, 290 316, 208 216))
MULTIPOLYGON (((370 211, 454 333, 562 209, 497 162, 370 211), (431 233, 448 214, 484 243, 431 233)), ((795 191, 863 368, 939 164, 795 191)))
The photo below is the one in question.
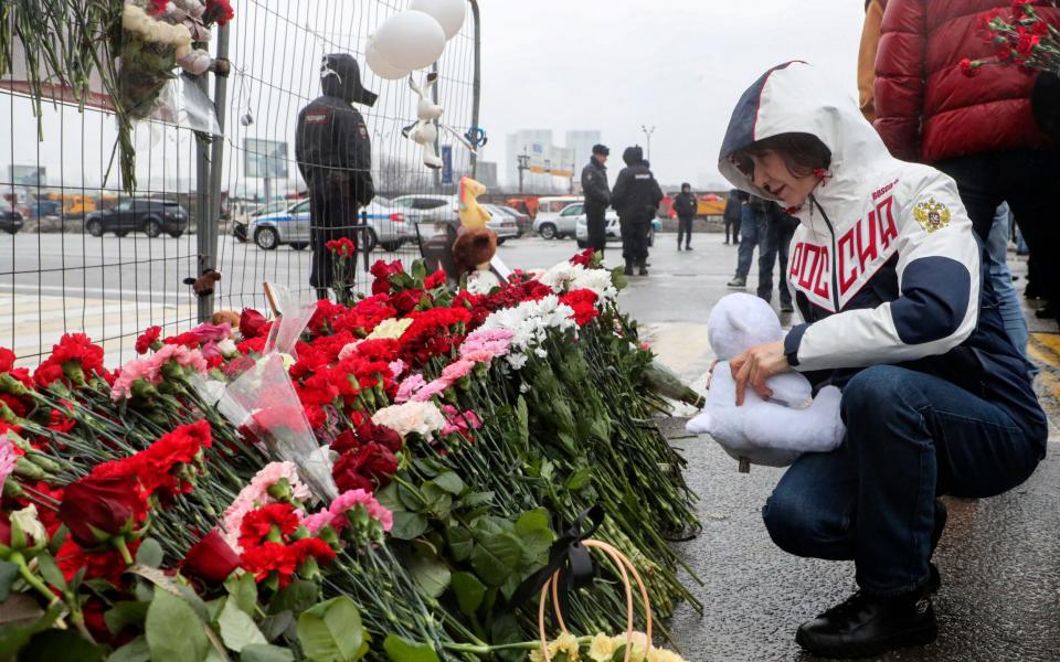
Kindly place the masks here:
POLYGON ((776 200, 729 157, 791 132, 820 139, 831 163, 792 211, 801 226, 787 279, 804 322, 785 339, 788 362, 838 385, 876 364, 935 374, 1004 408, 1045 453, 1046 416, 954 181, 891 157, 854 98, 801 62, 774 67, 743 94, 719 169, 739 189, 776 200))

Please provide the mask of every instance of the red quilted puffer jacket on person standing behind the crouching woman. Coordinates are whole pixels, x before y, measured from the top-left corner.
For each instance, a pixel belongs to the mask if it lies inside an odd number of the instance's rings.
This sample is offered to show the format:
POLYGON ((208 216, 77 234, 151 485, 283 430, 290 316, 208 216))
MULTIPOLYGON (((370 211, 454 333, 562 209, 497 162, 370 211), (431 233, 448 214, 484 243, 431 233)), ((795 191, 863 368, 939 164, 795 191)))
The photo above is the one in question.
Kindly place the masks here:
MULTIPOLYGON (((974 78, 963 57, 989 57, 976 17, 1008 0, 890 0, 876 56, 873 122, 891 153, 905 161, 1048 145, 1030 110, 1035 76, 1016 66, 984 66, 974 78)), ((1043 4, 1035 2, 1036 6, 1043 4)), ((1060 10, 1035 7, 1060 25, 1060 10)))

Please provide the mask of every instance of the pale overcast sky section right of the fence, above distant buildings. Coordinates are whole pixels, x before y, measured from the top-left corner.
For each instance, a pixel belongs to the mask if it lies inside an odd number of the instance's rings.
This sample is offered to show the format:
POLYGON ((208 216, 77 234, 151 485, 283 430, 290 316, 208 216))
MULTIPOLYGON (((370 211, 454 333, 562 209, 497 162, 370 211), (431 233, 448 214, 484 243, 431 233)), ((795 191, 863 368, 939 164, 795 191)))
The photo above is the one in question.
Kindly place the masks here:
POLYGON ((805 60, 857 95, 860 0, 480 3, 489 160, 508 158, 504 137, 524 128, 551 128, 558 141, 598 128, 616 160, 616 148, 645 143, 646 124, 664 183, 721 182, 729 114, 768 67, 805 60))

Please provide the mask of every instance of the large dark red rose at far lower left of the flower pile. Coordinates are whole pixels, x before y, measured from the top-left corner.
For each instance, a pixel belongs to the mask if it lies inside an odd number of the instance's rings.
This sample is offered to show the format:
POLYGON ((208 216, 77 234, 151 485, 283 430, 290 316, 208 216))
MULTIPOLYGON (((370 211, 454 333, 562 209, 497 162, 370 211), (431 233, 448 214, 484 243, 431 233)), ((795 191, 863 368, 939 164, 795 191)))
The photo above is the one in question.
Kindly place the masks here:
POLYGON ((136 478, 87 476, 67 485, 59 519, 78 545, 96 547, 131 531, 146 511, 136 478))

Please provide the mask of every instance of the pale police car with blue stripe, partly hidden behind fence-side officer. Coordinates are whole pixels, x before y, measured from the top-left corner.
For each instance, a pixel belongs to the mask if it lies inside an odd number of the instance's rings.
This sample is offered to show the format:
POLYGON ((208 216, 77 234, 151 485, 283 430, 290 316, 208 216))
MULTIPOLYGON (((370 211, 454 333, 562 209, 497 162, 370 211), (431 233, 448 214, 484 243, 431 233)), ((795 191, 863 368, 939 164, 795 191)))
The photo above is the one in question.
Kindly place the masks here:
MULTIPOLYGON (((379 245, 383 250, 396 250, 410 238, 407 220, 399 207, 386 204, 386 199, 373 200, 362 210, 368 221, 368 250, 379 245)), ((288 245, 295 250, 309 246, 309 200, 301 200, 278 213, 256 216, 250 227, 248 236, 263 250, 273 250, 288 245)))

